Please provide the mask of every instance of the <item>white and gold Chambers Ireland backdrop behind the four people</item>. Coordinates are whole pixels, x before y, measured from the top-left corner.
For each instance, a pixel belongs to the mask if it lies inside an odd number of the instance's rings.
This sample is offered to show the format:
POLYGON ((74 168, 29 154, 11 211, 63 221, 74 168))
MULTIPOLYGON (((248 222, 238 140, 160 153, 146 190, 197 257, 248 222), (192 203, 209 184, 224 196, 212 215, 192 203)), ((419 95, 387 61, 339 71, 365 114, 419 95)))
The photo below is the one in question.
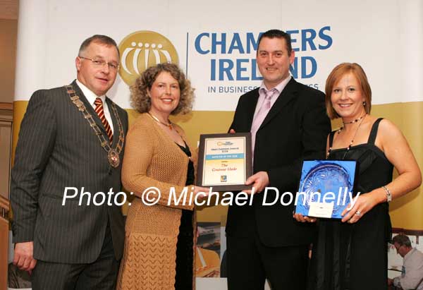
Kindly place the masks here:
MULTIPOLYGON (((109 35, 121 44, 123 64, 109 97, 128 109, 130 121, 136 114, 130 108, 128 83, 146 66, 172 61, 196 88, 192 113, 174 119, 189 141, 197 143, 200 133, 226 132, 238 97, 260 84, 255 48, 259 33, 271 28, 290 32, 296 56, 291 73, 301 83, 323 91, 334 66, 343 61, 362 65, 372 85, 372 114, 398 125, 423 167, 419 0, 21 0, 13 143, 32 92, 68 84, 75 74, 78 44, 94 34, 109 35)), ((333 128, 338 125, 333 123, 333 128)), ((423 229, 421 191, 391 204, 393 226, 423 229)), ((198 217, 219 222, 222 215, 226 208, 212 207, 198 217)))

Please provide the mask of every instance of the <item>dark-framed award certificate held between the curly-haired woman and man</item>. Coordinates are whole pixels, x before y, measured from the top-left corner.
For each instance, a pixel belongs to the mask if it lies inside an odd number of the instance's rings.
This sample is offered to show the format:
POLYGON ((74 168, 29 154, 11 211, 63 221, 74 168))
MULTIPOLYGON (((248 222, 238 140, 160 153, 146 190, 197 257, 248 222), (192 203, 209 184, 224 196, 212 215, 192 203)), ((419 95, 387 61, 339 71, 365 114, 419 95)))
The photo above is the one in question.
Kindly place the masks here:
POLYGON ((250 189, 252 175, 251 133, 200 135, 197 186, 214 191, 250 189))

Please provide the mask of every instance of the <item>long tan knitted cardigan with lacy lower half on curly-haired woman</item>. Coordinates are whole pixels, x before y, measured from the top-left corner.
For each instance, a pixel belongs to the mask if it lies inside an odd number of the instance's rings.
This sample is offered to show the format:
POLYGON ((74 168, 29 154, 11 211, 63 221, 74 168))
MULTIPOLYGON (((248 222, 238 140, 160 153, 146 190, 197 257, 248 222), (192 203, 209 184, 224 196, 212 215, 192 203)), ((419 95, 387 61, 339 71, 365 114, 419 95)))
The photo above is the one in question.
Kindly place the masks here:
MULTIPOLYGON (((182 128, 175 128, 186 140, 182 128)), ((191 152, 195 154, 192 147, 191 152)), ((168 205, 168 199, 171 187, 179 197, 187 170, 187 155, 151 116, 141 114, 128 131, 123 157, 123 186, 137 198, 131 202, 126 219, 117 289, 174 289, 181 209, 193 210, 194 206, 175 205, 173 200, 168 205), (161 198, 148 206, 140 195, 152 186, 159 189, 161 198)), ((193 222, 195 228, 195 218, 193 222)))

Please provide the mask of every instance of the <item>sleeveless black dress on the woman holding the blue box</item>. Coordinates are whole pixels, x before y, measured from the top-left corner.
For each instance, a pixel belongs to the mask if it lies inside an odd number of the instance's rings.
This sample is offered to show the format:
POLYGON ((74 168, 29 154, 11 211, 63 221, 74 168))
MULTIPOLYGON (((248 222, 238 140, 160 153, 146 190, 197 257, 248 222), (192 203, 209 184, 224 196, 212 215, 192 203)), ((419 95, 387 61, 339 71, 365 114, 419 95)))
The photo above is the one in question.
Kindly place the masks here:
MULTIPOLYGON (((328 159, 354 159, 359 164, 356 191, 369 193, 392 181, 393 165, 374 145, 381 119, 370 131, 367 143, 334 149, 328 159)), ((332 147, 333 131, 329 136, 332 147)), ((356 193, 357 193, 356 192, 356 193)), ((355 194, 356 194, 355 193, 355 194)), ((317 241, 312 250, 308 289, 386 290, 388 241, 391 219, 388 203, 380 203, 355 224, 338 219, 319 219, 317 241)))

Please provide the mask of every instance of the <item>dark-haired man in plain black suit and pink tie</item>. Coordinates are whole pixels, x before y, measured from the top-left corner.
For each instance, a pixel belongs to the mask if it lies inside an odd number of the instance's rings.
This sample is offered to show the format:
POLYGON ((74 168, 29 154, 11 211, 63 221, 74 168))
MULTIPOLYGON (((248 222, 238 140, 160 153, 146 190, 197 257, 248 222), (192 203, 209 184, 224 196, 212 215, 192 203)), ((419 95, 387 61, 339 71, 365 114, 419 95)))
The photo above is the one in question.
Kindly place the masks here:
MULTIPOLYGON (((231 205, 226 224, 228 289, 305 289, 308 246, 313 224, 293 219, 295 206, 282 205, 282 193, 298 191, 302 159, 324 158, 331 130, 324 94, 290 75, 295 53, 290 36, 269 30, 259 37, 257 65, 261 87, 239 99, 231 132, 251 132, 255 188, 252 206, 231 205), (279 200, 274 205, 276 191, 279 200)), ((283 200, 288 203, 288 200, 283 200)))

